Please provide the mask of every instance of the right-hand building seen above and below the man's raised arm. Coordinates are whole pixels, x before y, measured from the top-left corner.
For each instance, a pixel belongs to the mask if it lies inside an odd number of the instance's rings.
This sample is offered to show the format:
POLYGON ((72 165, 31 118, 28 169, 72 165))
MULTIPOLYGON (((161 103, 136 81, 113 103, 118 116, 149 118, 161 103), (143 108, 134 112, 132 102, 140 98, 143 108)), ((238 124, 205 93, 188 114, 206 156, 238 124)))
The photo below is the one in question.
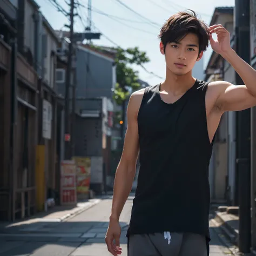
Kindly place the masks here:
MULTIPOLYGON (((230 32, 233 45, 234 16, 233 7, 217 7, 214 10, 210 25, 223 24, 230 32)), ((225 80, 235 84, 235 71, 218 53, 212 52, 205 70, 205 80, 213 82, 225 80)), ((235 113, 224 113, 215 135, 212 158, 210 161, 209 180, 212 202, 230 201, 235 198, 235 113)))

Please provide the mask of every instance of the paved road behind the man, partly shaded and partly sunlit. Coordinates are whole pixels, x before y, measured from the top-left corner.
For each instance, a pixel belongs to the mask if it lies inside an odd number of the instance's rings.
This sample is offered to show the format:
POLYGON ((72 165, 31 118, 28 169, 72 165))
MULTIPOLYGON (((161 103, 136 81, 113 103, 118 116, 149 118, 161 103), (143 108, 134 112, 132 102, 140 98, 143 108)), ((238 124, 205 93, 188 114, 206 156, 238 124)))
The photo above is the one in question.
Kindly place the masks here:
MULTIPOLYGON (((125 234, 131 206, 130 197, 120 217, 123 227, 120 239, 123 256, 127 256, 125 234)), ((16 234, 0 234, 0 256, 109 256, 104 237, 110 209, 111 197, 103 199, 99 204, 64 223, 36 223, 29 227, 20 227, 16 234)), ((211 236, 211 256, 230 253, 221 245, 214 227, 211 227, 211 236)))

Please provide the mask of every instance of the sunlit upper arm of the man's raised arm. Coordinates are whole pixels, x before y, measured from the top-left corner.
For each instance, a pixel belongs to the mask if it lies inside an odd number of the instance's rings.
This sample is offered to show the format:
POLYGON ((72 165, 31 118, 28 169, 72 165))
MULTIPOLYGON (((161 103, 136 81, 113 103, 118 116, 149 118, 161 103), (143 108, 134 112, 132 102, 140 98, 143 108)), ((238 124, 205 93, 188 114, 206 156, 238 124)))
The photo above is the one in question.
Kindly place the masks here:
POLYGON ((220 88, 217 106, 222 111, 241 111, 256 105, 256 98, 245 85, 225 83, 220 88))

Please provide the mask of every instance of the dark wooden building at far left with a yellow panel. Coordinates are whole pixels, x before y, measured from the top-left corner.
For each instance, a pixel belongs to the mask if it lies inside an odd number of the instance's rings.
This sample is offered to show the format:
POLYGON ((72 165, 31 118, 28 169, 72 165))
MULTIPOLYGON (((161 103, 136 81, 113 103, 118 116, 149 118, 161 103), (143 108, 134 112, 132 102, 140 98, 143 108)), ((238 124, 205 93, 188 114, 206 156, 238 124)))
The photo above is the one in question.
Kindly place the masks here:
POLYGON ((15 220, 55 197, 63 103, 55 83, 58 37, 37 3, 0 1, 0 19, 0 220, 15 220))

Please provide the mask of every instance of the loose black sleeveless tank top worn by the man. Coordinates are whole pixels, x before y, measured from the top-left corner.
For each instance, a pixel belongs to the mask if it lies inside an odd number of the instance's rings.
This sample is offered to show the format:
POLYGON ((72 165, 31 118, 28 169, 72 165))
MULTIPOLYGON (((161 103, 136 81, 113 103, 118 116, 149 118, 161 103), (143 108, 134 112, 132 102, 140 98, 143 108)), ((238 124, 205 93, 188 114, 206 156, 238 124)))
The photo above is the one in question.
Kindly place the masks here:
POLYGON ((161 99, 159 87, 146 87, 138 113, 140 169, 127 237, 191 232, 210 241, 207 83, 196 80, 173 104, 161 99))

